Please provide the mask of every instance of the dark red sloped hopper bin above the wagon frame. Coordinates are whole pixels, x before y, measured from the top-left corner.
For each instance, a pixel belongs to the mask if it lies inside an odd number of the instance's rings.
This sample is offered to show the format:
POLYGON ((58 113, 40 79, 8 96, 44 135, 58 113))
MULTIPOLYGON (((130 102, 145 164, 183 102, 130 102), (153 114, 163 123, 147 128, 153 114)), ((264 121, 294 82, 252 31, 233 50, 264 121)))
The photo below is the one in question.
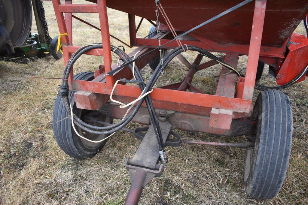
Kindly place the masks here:
MULTIPOLYGON (((162 1, 161 4, 173 27, 187 31, 242 1, 191 0, 188 2, 177 0, 162 1)), ((156 21, 153 4, 152 0, 107 0, 107 6, 110 8, 156 21)), ((271 0, 267 8, 262 46, 281 47, 308 13, 308 2, 305 0, 271 0)), ((227 17, 201 27, 194 34, 214 42, 249 45, 253 10, 254 2, 250 2, 231 12, 227 17)), ((163 24, 166 23, 161 15, 159 20, 163 24)))

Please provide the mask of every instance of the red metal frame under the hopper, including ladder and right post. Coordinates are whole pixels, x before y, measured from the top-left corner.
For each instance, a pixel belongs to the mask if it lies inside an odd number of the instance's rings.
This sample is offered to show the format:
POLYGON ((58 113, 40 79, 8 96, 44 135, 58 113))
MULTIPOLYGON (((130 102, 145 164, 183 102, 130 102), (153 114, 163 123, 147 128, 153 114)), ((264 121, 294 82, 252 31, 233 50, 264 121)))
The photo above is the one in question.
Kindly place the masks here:
MULTIPOLYGON (((113 76, 104 76, 110 70, 115 69, 117 66, 111 66, 111 52, 110 52, 110 33, 108 25, 108 15, 106 0, 97 0, 97 4, 72 4, 71 0, 65 0, 65 4, 61 4, 60 0, 52 0, 55 15, 59 25, 59 31, 61 34, 68 33, 67 36, 62 36, 61 41, 63 45, 64 64, 66 64, 71 56, 79 46, 73 46, 72 44, 72 13, 98 13, 100 21, 100 29, 102 36, 102 43, 104 49, 95 49, 86 52, 89 55, 103 56, 104 66, 101 71, 103 73, 96 73, 96 77, 93 81, 80 81, 72 80, 72 72, 69 76, 70 90, 79 91, 75 94, 76 103, 79 108, 83 109, 99 109, 108 100, 108 96, 111 94, 114 82, 120 78, 132 77, 131 71, 128 67, 115 73, 113 76), (65 18, 63 17, 65 13, 65 18), (98 75, 99 74, 99 75, 98 75), (89 94, 94 93, 95 98, 89 98, 89 94), (87 99, 88 98, 88 99, 87 99), (99 100, 101 102, 99 102, 99 100), (94 101, 94 102, 93 102, 94 101), (87 106, 86 106, 87 102, 87 106)), ((188 114, 200 114, 210 116, 210 126, 219 129, 230 129, 230 124, 233 119, 249 116, 252 111, 252 97, 255 83, 255 76, 257 72, 257 63, 259 56, 262 61, 268 62, 270 65, 278 66, 280 61, 284 61, 286 55, 287 42, 282 47, 269 47, 261 46, 263 24, 265 19, 266 0, 256 0, 254 6, 252 33, 250 38, 250 45, 240 44, 226 44, 220 42, 214 42, 207 38, 201 38, 200 36, 194 36, 192 38, 183 39, 183 44, 195 45, 204 48, 209 51, 226 53, 225 61, 230 60, 230 64, 237 66, 238 56, 245 54, 248 55, 247 71, 245 78, 240 77, 236 86, 236 76, 233 73, 227 73, 223 68, 217 86, 216 95, 209 95, 200 93, 197 88, 189 85, 191 78, 195 71, 191 71, 186 76, 186 80, 181 83, 173 84, 171 86, 154 88, 150 94, 153 100, 155 108, 164 108, 171 111, 179 111, 188 114), (196 37, 196 38, 195 38, 196 37), (195 40, 192 40, 195 38, 195 40), (199 38, 199 39, 197 39, 199 38), (183 84, 184 83, 184 84, 183 84), (182 84, 182 85, 181 85, 182 84), (178 89, 179 90, 170 90, 178 89), (192 92, 185 92, 186 88, 190 88, 192 92), (181 91, 182 90, 182 91, 181 91), (235 96, 235 97, 234 97, 235 96)), ((131 46, 138 46, 139 50, 142 50, 141 54, 146 53, 152 47, 157 47, 158 42, 156 39, 146 39, 136 37, 136 22, 135 16, 128 14, 130 44, 131 46), (142 49, 145 47, 144 49, 142 49)), ((161 29, 168 30, 167 26, 161 25, 161 29)), ((167 36, 167 34, 166 34, 167 36)), ((165 37, 166 37, 165 36, 165 37)), ((168 39, 162 39, 162 43, 167 42, 168 39)), ((177 47, 177 43, 171 42, 167 48, 177 47)), ((138 50, 137 49, 137 50, 138 50)), ((134 51, 133 53, 135 53, 134 51)), ((141 55, 139 54, 139 55, 141 55)), ((137 66, 142 69, 157 52, 153 52, 148 58, 141 58, 137 61, 137 66)), ((186 66, 190 67, 190 63, 187 62, 183 56, 178 56, 186 66)), ((225 58, 225 57, 222 57, 225 58)), ((199 62, 200 63, 200 62, 199 62)), ((214 61, 209 61, 198 65, 198 70, 207 68, 216 64, 214 61)), ((130 102, 133 98, 137 98, 140 95, 140 88, 131 85, 118 85, 114 92, 114 98, 120 98, 121 102, 130 102)), ((145 106, 145 105, 143 105, 145 106)), ((116 116, 115 116, 116 117, 116 116)), ((120 118, 120 116, 119 116, 120 118)), ((216 133, 215 129, 211 131, 216 133)))

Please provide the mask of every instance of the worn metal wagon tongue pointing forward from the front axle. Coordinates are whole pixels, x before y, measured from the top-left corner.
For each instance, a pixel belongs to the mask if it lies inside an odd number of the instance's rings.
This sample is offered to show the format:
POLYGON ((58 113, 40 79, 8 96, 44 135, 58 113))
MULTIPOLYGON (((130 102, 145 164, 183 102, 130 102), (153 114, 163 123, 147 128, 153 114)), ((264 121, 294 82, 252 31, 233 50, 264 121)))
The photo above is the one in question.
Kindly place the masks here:
MULTIPOLYGON (((171 124, 168 121, 163 121, 159 124, 165 143, 171 130, 171 124)), ((153 179, 153 177, 162 175, 165 165, 158 164, 159 158, 160 154, 158 152, 154 127, 151 125, 142 139, 134 157, 125 160, 125 167, 128 169, 131 179, 131 187, 125 204, 138 204, 145 185, 153 179)))

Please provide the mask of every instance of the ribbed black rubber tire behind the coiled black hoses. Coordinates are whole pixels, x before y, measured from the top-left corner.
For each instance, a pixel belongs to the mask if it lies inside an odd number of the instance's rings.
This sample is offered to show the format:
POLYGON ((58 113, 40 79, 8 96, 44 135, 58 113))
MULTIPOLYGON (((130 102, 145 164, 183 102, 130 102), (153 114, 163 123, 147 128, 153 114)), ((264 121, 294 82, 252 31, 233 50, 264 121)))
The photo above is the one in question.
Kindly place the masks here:
MULTIPOLYGON (((82 72, 74 76, 74 79, 76 80, 89 81, 92 80, 93 78, 94 78, 93 72, 82 72)), ((71 103, 72 105, 74 105, 75 104, 74 95, 71 94, 71 96, 72 96, 71 103)), ((78 110, 80 111, 81 109, 77 109, 74 106, 73 111, 76 115, 78 115, 78 110)), ((91 145, 86 146, 85 143, 83 143, 83 140, 78 135, 76 135, 75 131, 71 126, 71 118, 67 118, 68 116, 69 115, 67 114, 62 102, 62 97, 58 95, 55 100, 55 106, 52 115, 53 119, 52 127, 55 135, 55 140, 58 143, 59 147, 67 155, 70 155, 71 157, 77 159, 93 157, 103 148, 107 140, 104 140, 101 143, 90 143, 91 145), (64 118, 67 119, 62 120, 64 118)), ((113 119, 105 117, 104 121, 107 123, 112 123, 113 119)), ((77 130, 79 129, 77 126, 75 127, 77 130)))

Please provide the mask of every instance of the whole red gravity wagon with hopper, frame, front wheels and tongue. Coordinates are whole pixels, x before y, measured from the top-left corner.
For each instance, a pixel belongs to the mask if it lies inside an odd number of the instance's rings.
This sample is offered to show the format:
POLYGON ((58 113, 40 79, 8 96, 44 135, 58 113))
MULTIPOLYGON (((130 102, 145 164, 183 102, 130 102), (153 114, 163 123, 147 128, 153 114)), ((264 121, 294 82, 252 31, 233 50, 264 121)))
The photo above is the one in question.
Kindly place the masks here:
POLYGON ((279 90, 307 76, 308 39, 293 33, 308 13, 307 0, 52 3, 65 64, 55 101, 53 130, 65 153, 79 159, 89 158, 116 131, 132 132, 141 143, 134 157, 125 161, 131 179, 125 203, 137 204, 144 186, 168 167, 168 146, 191 143, 241 147, 246 149, 247 194, 255 199, 270 199, 278 194, 286 176, 293 129, 289 98, 279 90), (128 14, 129 45, 120 39, 117 40, 123 46, 111 45, 110 37, 115 37, 109 33, 107 7, 128 14), (98 13, 100 28, 73 13, 98 13), (139 23, 136 16, 141 17, 139 23), (102 43, 73 45, 72 18, 99 29, 102 43), (143 20, 153 26, 148 36, 137 38, 143 20), (132 46, 136 50, 125 53, 125 47, 132 46), (182 55, 188 50, 196 52, 194 62, 188 62, 182 55), (210 52, 224 55, 217 57, 210 52), (73 65, 83 54, 103 56, 102 65, 95 72, 73 75, 73 65), (237 70, 241 55, 248 56, 245 73, 237 70), (201 63, 203 57, 211 60, 201 63), (173 58, 187 66, 185 78, 171 85, 154 86, 173 58), (116 59, 115 65, 111 65, 112 59, 116 59), (147 64, 153 73, 145 82, 140 70, 147 64), (216 64, 221 64, 216 94, 205 94, 192 85, 193 76, 216 64), (277 86, 257 83, 265 64, 269 65, 277 86), (261 92, 253 106, 254 89, 261 92), (113 119, 120 121, 113 123, 113 119), (130 121, 149 127, 125 128, 130 121), (188 141, 175 129, 245 135, 247 141, 188 141))

